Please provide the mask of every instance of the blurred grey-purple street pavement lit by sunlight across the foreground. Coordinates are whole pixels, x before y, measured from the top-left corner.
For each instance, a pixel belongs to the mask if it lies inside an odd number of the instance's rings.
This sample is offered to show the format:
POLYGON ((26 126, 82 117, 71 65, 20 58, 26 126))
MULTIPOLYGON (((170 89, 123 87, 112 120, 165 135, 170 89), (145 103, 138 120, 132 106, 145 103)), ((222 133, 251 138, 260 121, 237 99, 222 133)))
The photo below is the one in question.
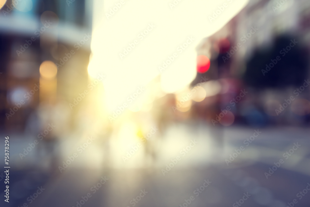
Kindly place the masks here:
MULTIPOLYGON (((21 168, 12 162, 5 206, 309 206, 308 128, 217 130, 202 123, 174 124, 155 134, 148 150, 111 137, 79 153, 79 144, 64 140, 59 163, 78 156, 61 173, 56 165, 51 173, 41 163, 21 168), (36 195, 40 187, 44 190, 36 195)), ((27 145, 17 143, 21 149, 27 145)))

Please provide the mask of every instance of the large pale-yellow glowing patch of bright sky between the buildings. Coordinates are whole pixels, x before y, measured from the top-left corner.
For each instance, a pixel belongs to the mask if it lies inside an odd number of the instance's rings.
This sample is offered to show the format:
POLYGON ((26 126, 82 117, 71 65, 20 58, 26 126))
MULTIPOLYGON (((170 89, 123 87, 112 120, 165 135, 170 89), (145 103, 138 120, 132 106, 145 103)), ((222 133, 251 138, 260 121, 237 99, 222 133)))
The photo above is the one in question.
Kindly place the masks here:
POLYGON ((248 1, 192 0, 175 6, 173 1, 159 0, 141 10, 139 5, 145 1, 136 0, 110 14, 115 2, 94 0, 88 73, 108 77, 104 82, 107 108, 117 110, 133 91, 159 75, 163 93, 188 86, 197 74, 196 48, 201 40, 226 25, 248 1), (224 3, 228 7, 222 12, 219 7, 224 3), (211 20, 214 12, 220 14, 211 20))

